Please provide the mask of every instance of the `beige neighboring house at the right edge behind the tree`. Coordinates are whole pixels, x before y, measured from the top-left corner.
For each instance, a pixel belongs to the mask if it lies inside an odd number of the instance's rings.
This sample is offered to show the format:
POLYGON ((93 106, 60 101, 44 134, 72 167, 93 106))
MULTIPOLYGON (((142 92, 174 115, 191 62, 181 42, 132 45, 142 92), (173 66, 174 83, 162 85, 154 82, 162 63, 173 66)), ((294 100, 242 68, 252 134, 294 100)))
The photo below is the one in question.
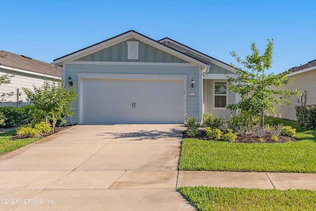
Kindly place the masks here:
POLYGON ((287 120, 297 120, 295 114, 296 105, 311 105, 316 104, 316 60, 310 61, 307 64, 293 67, 289 70, 291 73, 288 78, 293 78, 293 84, 283 85, 280 88, 295 90, 298 89, 300 96, 291 96, 289 98, 290 106, 276 106, 277 113, 270 114, 277 118, 287 120))

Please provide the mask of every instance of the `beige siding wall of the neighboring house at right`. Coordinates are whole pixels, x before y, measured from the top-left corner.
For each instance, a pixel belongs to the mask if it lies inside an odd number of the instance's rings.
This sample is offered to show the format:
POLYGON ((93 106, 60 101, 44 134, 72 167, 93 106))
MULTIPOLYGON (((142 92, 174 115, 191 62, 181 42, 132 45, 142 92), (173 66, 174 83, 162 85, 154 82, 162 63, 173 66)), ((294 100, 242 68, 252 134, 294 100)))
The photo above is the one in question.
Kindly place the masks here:
MULTIPOLYGON (((316 104, 316 70, 294 75, 293 78, 291 79, 293 84, 283 85, 281 88, 289 90, 298 89, 300 94, 306 91, 306 105, 316 104)), ((298 102, 299 98, 299 96, 295 95, 289 97, 288 99, 291 102, 289 106, 281 107, 275 105, 277 113, 270 113, 268 116, 296 121, 295 106, 302 105, 298 102)))

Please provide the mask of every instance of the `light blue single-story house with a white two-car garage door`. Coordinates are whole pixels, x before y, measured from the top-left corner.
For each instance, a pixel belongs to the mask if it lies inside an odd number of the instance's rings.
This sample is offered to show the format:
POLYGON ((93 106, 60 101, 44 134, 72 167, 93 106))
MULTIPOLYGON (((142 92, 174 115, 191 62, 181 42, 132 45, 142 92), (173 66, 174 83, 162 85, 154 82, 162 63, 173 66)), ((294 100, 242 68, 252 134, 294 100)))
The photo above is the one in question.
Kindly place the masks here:
POLYGON ((169 38, 156 41, 133 30, 57 58, 78 100, 73 123, 183 123, 203 112, 232 114, 226 104, 228 64, 169 38))

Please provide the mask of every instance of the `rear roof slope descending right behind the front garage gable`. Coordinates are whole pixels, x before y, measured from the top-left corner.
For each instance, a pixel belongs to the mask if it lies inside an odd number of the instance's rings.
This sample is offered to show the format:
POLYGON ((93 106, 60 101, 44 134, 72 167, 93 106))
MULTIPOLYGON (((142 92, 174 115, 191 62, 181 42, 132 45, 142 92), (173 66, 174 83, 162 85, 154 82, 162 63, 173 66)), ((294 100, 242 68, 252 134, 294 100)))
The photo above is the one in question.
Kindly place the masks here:
MULTIPOLYGON (((180 46, 182 48, 188 49, 189 51, 191 51, 193 53, 196 53, 198 56, 201 56, 203 58, 203 60, 204 59, 210 60, 212 63, 215 63, 215 64, 217 64, 219 66, 223 66, 224 65, 225 68, 228 68, 230 71, 236 72, 235 69, 232 66, 230 66, 229 64, 227 64, 225 62, 222 62, 222 61, 220 61, 218 59, 215 59, 214 57, 211 57, 211 56, 209 56, 209 55, 207 55, 205 53, 202 53, 202 52, 200 52, 200 51, 198 51, 196 49, 193 49, 192 47, 189 47, 189 46, 187 46, 185 44, 182 44, 180 42, 177 42, 177 41, 172 40, 172 39, 167 38, 167 37, 163 38, 161 40, 158 40, 158 42, 165 42, 165 41, 172 42, 173 44, 176 44, 176 45, 178 45, 178 46, 180 46)), ((189 52, 183 52, 183 53, 188 54, 188 55, 191 54, 189 52)))

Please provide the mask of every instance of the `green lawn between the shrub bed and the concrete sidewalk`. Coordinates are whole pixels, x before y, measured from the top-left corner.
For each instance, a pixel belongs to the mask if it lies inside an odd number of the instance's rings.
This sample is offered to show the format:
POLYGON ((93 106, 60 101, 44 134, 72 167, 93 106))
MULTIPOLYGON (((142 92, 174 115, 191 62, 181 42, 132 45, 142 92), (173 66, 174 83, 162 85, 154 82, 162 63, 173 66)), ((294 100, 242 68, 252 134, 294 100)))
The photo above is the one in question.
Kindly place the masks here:
POLYGON ((185 138, 179 169, 316 173, 316 131, 295 122, 272 120, 297 128, 302 141, 245 144, 185 138))

